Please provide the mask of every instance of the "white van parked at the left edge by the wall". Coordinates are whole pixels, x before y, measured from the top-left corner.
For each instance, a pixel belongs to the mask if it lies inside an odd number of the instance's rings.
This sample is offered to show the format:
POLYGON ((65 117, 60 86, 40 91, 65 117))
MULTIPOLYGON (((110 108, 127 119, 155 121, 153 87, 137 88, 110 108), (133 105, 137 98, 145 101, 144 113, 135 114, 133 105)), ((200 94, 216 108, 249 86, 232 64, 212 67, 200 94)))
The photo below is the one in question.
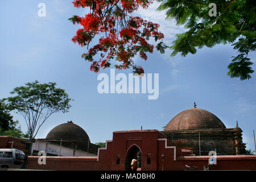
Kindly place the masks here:
POLYGON ((27 158, 23 151, 13 148, 0 148, 1 168, 20 168, 27 158))

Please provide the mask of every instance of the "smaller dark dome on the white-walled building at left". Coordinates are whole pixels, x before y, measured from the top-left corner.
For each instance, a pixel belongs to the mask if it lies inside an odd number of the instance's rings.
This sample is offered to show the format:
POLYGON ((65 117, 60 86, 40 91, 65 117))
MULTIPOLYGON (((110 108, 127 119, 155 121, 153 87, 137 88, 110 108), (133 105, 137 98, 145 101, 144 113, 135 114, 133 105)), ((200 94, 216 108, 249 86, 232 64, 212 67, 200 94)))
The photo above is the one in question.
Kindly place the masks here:
POLYGON ((54 127, 48 133, 46 139, 68 139, 88 142, 89 137, 80 126, 70 121, 54 127))

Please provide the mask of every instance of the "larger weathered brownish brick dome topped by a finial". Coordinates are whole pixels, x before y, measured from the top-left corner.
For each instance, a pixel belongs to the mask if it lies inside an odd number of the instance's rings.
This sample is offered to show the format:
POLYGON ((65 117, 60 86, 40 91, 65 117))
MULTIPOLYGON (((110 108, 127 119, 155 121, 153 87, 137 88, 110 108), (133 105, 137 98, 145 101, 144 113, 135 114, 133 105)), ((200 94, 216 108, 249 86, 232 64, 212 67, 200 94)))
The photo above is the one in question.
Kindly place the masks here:
POLYGON ((177 114, 164 131, 193 129, 225 129, 224 123, 207 110, 192 108, 177 114))

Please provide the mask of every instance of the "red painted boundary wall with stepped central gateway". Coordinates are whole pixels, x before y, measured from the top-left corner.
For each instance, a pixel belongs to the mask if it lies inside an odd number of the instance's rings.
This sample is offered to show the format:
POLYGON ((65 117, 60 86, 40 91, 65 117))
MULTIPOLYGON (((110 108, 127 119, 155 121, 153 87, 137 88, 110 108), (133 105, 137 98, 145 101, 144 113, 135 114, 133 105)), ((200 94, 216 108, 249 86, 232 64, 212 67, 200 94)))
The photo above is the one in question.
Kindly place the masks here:
MULTIPOLYGON (((113 140, 106 142, 106 148, 98 151, 97 157, 46 157, 46 165, 38 164, 38 156, 28 157, 29 169, 49 170, 125 170, 127 152, 134 145, 141 150, 141 170, 185 170, 187 166, 196 166, 202 170, 208 164, 210 156, 182 156, 181 150, 171 147, 167 140, 157 130, 115 131, 113 140), (147 164, 147 155, 151 157, 151 164, 147 164), (120 163, 117 164, 117 156, 120 163)), ((256 156, 217 156, 214 170, 256 170, 256 156)))

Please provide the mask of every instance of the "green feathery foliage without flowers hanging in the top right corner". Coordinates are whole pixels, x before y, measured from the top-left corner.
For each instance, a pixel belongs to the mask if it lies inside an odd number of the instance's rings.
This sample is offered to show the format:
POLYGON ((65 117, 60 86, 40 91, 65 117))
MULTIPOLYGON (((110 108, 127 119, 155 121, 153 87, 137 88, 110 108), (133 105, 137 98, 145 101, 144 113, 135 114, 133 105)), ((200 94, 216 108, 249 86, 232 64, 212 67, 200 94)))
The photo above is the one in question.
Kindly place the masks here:
POLYGON ((253 62, 248 56, 255 51, 255 0, 157 0, 162 2, 159 11, 166 11, 166 19, 175 19, 184 25, 186 32, 176 35, 170 48, 171 56, 181 53, 195 54, 196 48, 213 47, 216 44, 232 44, 238 55, 228 65, 228 75, 241 80, 251 78, 253 62), (210 3, 217 5, 216 16, 210 16, 210 3))

